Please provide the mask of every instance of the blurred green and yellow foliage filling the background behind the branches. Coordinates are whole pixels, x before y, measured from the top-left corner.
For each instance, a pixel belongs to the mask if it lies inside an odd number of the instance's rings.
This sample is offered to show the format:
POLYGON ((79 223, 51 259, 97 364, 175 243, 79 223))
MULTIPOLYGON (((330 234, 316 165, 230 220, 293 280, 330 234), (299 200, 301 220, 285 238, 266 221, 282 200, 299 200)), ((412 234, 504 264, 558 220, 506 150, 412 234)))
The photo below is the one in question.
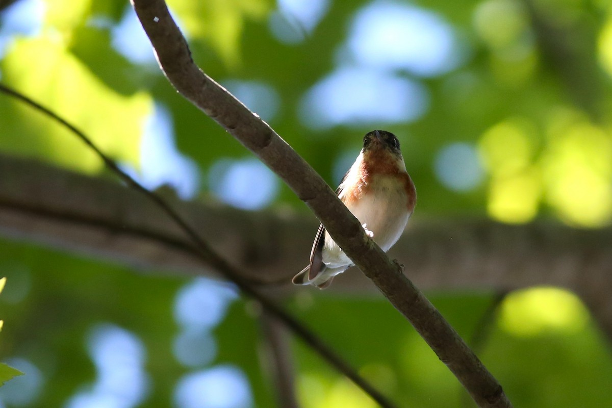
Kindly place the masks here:
MULTIPOLYGON (((34 4, 42 21, 34 32, 7 40, 0 60, 4 83, 53 108, 136 169, 147 117, 155 103, 165 106, 178 149, 198 165, 201 195, 211 194, 207 177, 218 160, 250 157, 176 94, 151 54, 134 61, 119 52, 113 29, 135 18, 127 2, 34 4)), ((612 6, 605 0, 397 2, 445 21, 461 45, 461 62, 430 76, 399 70, 400 78, 428 92, 427 110, 414 121, 328 128, 313 128, 312 117, 302 117, 302 98, 338 67, 354 64, 346 42, 354 16, 371 2, 330 2, 312 29, 299 21, 293 25, 291 42, 273 34, 279 18, 291 30, 291 16, 271 0, 169 4, 206 73, 222 84, 255 81, 274 91, 276 112, 263 119, 331 185, 338 181, 335 166, 357 154, 361 136, 373 127, 388 128, 400 138, 419 191, 416 217, 480 215, 524 223, 540 216, 584 228, 610 223, 612 6), (436 170, 441 152, 454 144, 476 152, 483 174, 463 190, 449 188, 436 170)), ((63 128, 6 97, 0 97, 0 149, 103 172, 99 160, 63 128)), ((304 209, 283 186, 271 206, 285 204, 304 209)), ((146 350, 149 386, 140 406, 168 406, 182 376, 220 364, 247 374, 253 406, 274 406, 274 387, 260 365, 257 313, 248 302, 234 302, 214 328, 213 360, 182 365, 172 352, 181 330, 173 308, 186 279, 9 240, 0 242, 0 260, 0 275, 13 283, 0 297, 2 317, 10 322, 2 332, 0 357, 25 358, 43 377, 25 403, 12 404, 0 393, 7 406, 69 406, 73 396, 94 387, 100 368, 92 362, 88 338, 97 325, 108 323, 129 330, 146 350)), ((433 301, 471 338, 493 295, 439 293, 433 301)), ((307 292, 287 303, 400 406, 470 406, 452 374, 383 300, 307 292)), ((609 344, 574 295, 550 288, 512 294, 488 329, 479 354, 515 406, 610 403, 609 344)), ((304 407, 373 406, 312 351, 299 342, 294 350, 304 407)))

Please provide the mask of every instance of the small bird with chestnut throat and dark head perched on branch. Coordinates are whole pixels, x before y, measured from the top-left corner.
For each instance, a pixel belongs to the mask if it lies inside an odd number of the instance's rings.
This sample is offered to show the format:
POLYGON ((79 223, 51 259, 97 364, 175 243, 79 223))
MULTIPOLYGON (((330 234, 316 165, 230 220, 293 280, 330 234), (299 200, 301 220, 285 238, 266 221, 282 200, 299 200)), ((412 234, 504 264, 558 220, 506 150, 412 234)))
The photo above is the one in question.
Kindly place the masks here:
MULTIPOLYGON (((336 194, 362 224, 365 233, 383 251, 388 251, 404 231, 417 199, 397 137, 384 130, 368 132, 363 149, 336 194)), ((310 263, 292 281, 296 285, 310 284, 324 289, 334 276, 351 266, 351 259, 321 224, 310 251, 310 263)))

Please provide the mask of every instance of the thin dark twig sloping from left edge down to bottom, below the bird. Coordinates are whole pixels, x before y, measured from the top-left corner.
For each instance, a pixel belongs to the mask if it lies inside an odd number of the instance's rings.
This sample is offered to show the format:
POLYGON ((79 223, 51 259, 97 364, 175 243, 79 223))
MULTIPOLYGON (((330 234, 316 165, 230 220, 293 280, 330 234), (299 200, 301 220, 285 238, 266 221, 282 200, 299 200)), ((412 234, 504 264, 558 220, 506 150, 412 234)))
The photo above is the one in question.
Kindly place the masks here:
POLYGON ((201 258, 203 258, 207 264, 214 267, 221 275, 223 275, 226 279, 232 281, 236 286, 241 289, 241 291, 256 299, 264 309, 270 313, 272 316, 276 317, 279 321, 283 322, 291 331, 293 331, 297 336, 299 336, 304 343, 308 344, 308 346, 312 347, 316 352, 318 352, 321 357, 323 357, 330 365, 334 366, 340 373, 344 374, 346 377, 351 379, 359 388, 361 388, 365 393, 370 395, 372 399, 374 399, 381 407, 385 408, 394 408, 394 404, 389 401, 382 393, 380 393, 376 388, 374 388, 370 383, 367 382, 363 377, 359 376, 356 371, 351 368, 346 362, 344 362, 337 354, 335 354, 332 349, 327 346, 316 336, 310 329, 305 327, 304 324, 297 321, 293 316, 288 314, 285 310, 283 310, 280 306, 274 303, 271 299, 266 297, 266 295, 261 294, 261 292, 257 291, 251 284, 249 284, 244 278, 242 278, 239 271, 234 269, 234 267, 217 253, 215 253, 204 240, 199 236, 197 232, 185 221, 176 210, 173 209, 172 206, 168 204, 161 196, 156 193, 147 190, 140 183, 130 177, 127 173, 121 170, 119 166, 108 157, 105 153, 102 152, 95 144, 88 138, 83 132, 81 132, 78 128, 65 121, 58 114, 54 113, 48 108, 40 105, 37 102, 34 102, 31 98, 26 97, 18 91, 15 91, 4 84, 0 84, 0 91, 5 94, 9 94, 12 97, 17 98, 21 102, 32 106, 32 108, 37 109, 43 114, 52 117, 55 121, 58 121, 60 124, 69 128, 72 133, 74 133, 78 138, 83 141, 87 146, 89 146, 94 152, 104 161, 106 166, 110 168, 113 172, 118 174, 118 176, 124 180, 130 187, 135 188, 137 191, 143 193, 143 195, 147 196, 147 198, 152 201, 163 210, 163 212, 168 215, 181 229, 187 234, 187 236, 193 241, 195 245, 195 250, 199 254, 201 258))

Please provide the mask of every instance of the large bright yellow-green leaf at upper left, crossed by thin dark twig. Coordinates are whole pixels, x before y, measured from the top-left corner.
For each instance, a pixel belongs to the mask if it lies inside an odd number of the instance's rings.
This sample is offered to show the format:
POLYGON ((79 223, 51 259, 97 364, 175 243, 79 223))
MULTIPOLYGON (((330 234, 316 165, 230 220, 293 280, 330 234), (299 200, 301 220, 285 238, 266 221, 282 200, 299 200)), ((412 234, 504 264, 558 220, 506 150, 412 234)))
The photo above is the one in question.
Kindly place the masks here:
MULTIPOLYGON (((151 97, 124 96, 103 84, 50 37, 17 40, 2 61, 2 80, 81 128, 106 154, 138 166, 144 120, 151 97), (44 61, 44 69, 32 61, 44 61)), ((23 103, 0 98, 2 149, 33 155, 82 171, 102 163, 91 149, 23 103)))

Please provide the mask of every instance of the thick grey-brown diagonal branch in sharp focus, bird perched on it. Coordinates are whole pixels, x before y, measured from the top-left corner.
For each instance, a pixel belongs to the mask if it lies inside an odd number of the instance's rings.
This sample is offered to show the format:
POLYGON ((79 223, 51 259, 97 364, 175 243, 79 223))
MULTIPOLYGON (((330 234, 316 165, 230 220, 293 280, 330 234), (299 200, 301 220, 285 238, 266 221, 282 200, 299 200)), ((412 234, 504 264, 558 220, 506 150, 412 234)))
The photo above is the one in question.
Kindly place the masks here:
POLYGON ((510 407, 501 385, 444 317, 369 239, 324 180, 242 103, 195 65, 163 0, 132 0, 168 80, 257 155, 304 201, 351 260, 414 325, 480 407, 510 407))

